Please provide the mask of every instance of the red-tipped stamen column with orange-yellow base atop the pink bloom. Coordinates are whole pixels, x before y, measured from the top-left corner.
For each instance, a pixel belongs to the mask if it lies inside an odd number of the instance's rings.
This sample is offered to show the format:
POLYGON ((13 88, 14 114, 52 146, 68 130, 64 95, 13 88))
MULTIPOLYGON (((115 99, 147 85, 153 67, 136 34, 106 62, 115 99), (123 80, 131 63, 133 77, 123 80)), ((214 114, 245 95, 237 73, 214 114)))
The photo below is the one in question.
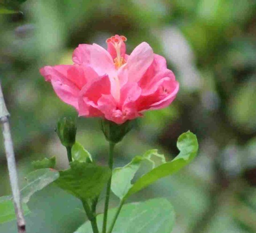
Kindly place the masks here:
POLYGON ((125 36, 119 35, 111 36, 111 38, 108 38, 106 40, 106 43, 111 43, 113 45, 113 48, 115 48, 116 58, 113 59, 113 61, 116 69, 120 68, 121 65, 126 63, 124 57, 121 56, 121 46, 124 41, 127 41, 127 38, 125 38, 125 36))

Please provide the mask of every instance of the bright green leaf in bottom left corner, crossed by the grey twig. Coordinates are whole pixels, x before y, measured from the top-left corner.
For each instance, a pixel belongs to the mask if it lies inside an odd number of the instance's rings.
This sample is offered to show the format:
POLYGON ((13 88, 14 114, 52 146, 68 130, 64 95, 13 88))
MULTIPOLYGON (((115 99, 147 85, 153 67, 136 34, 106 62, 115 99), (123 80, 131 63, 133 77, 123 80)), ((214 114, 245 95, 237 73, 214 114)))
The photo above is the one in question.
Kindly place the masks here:
MULTIPOLYGON (((22 209, 24 215, 30 213, 29 207, 25 203, 22 203, 22 209)), ((9 222, 16 219, 15 209, 13 201, 8 197, 1 197, 0 201, 0 223, 9 222)))

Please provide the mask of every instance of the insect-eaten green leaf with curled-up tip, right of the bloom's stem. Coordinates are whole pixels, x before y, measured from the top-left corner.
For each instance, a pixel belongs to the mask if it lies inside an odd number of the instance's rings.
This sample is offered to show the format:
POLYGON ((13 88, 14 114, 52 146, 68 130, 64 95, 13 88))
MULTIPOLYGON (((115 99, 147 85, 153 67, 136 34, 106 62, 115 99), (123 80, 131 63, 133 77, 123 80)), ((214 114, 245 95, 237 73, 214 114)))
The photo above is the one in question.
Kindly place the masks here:
POLYGON ((154 155, 162 157, 156 150, 148 151, 143 156, 136 156, 131 163, 123 168, 114 169, 111 186, 112 192, 120 199, 127 199, 132 194, 139 192, 160 178, 169 176, 189 164, 196 157, 198 151, 196 135, 190 131, 180 135, 177 147, 180 150, 177 157, 168 163, 165 163, 165 160, 162 159, 163 164, 156 168, 153 167, 150 172, 141 176, 134 184, 131 184, 131 181, 144 160, 149 160, 154 155))

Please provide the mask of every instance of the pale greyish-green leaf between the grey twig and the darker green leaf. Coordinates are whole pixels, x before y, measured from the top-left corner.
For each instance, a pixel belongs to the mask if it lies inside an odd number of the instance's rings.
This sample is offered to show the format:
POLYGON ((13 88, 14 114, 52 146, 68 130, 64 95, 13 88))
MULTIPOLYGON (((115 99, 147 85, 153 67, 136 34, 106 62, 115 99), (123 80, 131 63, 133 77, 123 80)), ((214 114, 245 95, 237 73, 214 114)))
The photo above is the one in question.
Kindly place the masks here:
POLYGON ((32 194, 43 189, 59 177, 59 172, 44 168, 35 170, 26 176, 28 184, 21 190, 22 201, 27 203, 32 194))

